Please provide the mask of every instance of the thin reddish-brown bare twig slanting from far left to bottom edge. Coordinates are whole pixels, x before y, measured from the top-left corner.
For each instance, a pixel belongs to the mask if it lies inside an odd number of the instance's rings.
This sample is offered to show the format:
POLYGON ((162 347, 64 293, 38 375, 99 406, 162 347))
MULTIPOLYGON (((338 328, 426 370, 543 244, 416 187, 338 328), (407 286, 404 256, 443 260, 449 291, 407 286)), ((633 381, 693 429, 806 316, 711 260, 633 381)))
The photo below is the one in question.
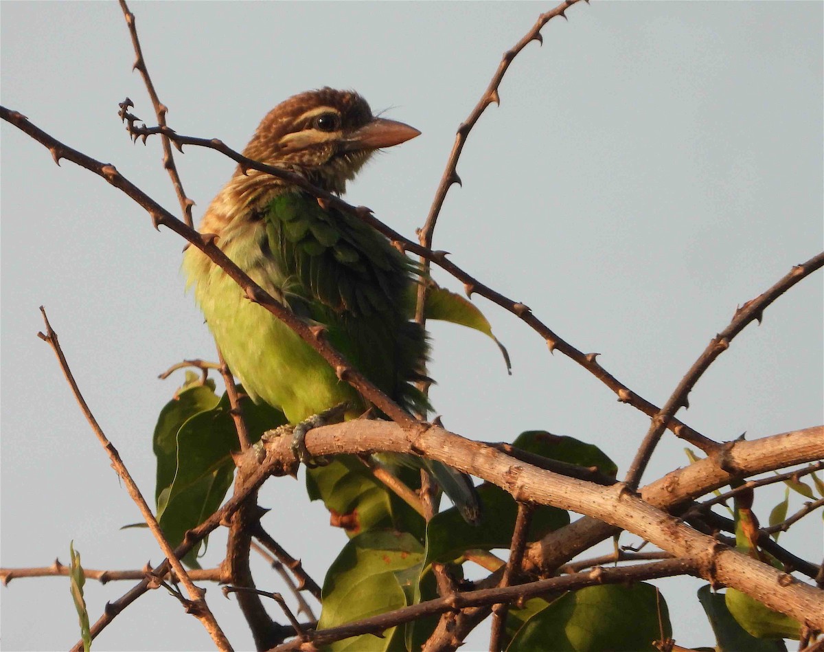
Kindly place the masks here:
POLYGON ((196 617, 203 624, 206 631, 208 631, 208 635, 212 637, 214 644, 218 646, 219 650, 232 650, 232 645, 229 644, 229 641, 223 634, 218 622, 214 619, 212 612, 206 604, 204 599, 204 590, 199 589, 199 587, 194 585, 191 578, 186 573, 186 570, 183 568, 183 565, 180 564, 180 559, 175 556, 175 551, 172 550, 169 542, 166 541, 166 537, 163 535, 160 525, 157 523, 157 519, 154 517, 154 514, 152 514, 152 509, 149 508, 146 500, 140 493, 138 485, 133 481, 132 476, 129 474, 129 470, 123 463, 123 460, 120 459, 120 455, 117 452, 115 445, 106 438, 100 425, 97 424, 97 420, 94 415, 91 414, 89 406, 87 406, 85 399, 83 399, 83 396, 80 393, 80 388, 77 387, 77 382, 74 380, 72 370, 68 367, 68 362, 63 355, 63 349, 60 348, 57 333, 52 330, 51 324, 49 324, 49 317, 46 316, 46 312, 42 306, 40 307, 40 312, 43 313, 43 321, 45 323, 46 332, 45 334, 38 333, 37 335, 54 350, 54 354, 57 356, 60 368, 63 370, 63 375, 66 377, 69 386, 72 388, 72 393, 74 394, 83 415, 86 416, 86 419, 89 422, 89 425, 91 425, 91 429, 94 430, 94 433, 97 435, 97 439, 100 441, 101 446, 109 455, 112 467, 115 468, 115 471, 123 480, 126 490, 129 492, 129 496, 131 496, 134 503, 137 504, 138 509, 140 509, 140 514, 143 515, 143 520, 146 521, 146 524, 152 531, 157 543, 161 546, 163 554, 166 555, 166 559, 169 560, 172 569, 175 570, 175 575, 180 580, 180 584, 183 584, 186 592, 189 593, 190 600, 186 604, 186 611, 194 615, 194 617, 196 617))

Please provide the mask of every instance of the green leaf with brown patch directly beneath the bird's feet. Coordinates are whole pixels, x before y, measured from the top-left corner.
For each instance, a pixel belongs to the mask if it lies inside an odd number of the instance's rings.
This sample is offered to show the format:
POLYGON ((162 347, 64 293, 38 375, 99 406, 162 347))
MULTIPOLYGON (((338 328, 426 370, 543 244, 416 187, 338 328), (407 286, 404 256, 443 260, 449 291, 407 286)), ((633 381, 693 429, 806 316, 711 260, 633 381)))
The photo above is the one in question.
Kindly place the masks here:
MULTIPOLYGON (((419 477, 418 471, 410 469, 392 471, 401 481, 419 477)), ((394 529, 423 540, 424 519, 377 481, 358 457, 338 455, 323 467, 307 469, 307 492, 310 500, 323 500, 330 513, 347 517, 344 523, 349 537, 394 529)))

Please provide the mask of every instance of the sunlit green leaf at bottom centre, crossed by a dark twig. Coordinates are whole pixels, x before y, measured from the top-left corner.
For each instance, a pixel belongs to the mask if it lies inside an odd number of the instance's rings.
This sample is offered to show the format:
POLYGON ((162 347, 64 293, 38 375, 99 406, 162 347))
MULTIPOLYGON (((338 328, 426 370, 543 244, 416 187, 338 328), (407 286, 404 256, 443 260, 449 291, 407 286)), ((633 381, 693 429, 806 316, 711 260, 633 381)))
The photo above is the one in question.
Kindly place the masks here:
MULTIPOLYGON (((401 582, 414 574, 399 571, 420 565, 424 551, 410 534, 363 532, 350 540, 332 563, 323 584, 323 610, 318 629, 376 616, 408 605, 401 582)), ((328 650, 405 650, 404 628, 393 627, 384 638, 364 634, 326 646, 328 650)))

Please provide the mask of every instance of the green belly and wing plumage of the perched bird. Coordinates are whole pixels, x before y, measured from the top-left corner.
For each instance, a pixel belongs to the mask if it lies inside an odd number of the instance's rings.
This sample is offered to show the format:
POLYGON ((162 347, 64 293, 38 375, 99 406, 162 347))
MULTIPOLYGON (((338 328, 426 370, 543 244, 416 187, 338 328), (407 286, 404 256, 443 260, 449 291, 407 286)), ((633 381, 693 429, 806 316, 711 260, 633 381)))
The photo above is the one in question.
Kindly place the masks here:
MULTIPOLYGON (((302 192, 275 196, 232 231, 222 249, 246 274, 298 316, 325 325, 335 349, 405 409, 426 406, 410 384, 421 378, 427 347, 405 314, 412 283, 406 256, 357 218, 321 209, 302 192)), ((343 401, 365 409, 314 349, 246 300, 199 251, 187 251, 185 270, 223 356, 253 399, 278 406, 292 423, 343 401)))

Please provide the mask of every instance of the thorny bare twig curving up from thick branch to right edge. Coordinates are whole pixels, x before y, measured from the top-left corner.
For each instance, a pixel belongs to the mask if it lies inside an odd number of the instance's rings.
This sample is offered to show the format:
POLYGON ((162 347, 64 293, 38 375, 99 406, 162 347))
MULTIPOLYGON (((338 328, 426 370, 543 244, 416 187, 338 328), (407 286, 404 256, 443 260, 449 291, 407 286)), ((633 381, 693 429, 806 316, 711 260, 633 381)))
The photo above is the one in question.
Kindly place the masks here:
MULTIPOLYGON (((678 387, 672 392, 672 396, 669 397, 662 409, 658 411, 658 414, 653 416, 653 421, 649 425, 649 430, 644 437, 644 441, 641 443, 638 453, 635 454, 635 458, 630 466, 630 471, 626 475, 625 482, 630 489, 634 489, 639 485, 641 476, 644 474, 644 469, 647 467, 649 459, 653 455, 653 450, 655 450, 664 429, 667 427, 667 423, 672 420, 672 416, 675 415, 681 407, 689 406, 687 395, 691 392, 692 388, 695 387, 695 383, 698 382, 699 378, 701 378, 709 368, 709 365, 713 364, 714 360, 729 348, 733 338, 743 331, 744 327, 751 321, 761 323, 764 310, 770 303, 773 303, 775 299, 779 298, 789 290, 789 288, 792 288, 798 281, 820 269, 822 265, 824 265, 824 252, 817 256, 812 256, 810 260, 801 265, 795 265, 792 270, 789 270, 788 274, 784 275, 783 279, 780 279, 764 293, 761 293, 756 298, 751 299, 739 307, 729 326, 710 340, 704 353, 695 360, 690 370, 684 378, 681 379, 681 382, 678 383, 678 387)), ((676 434, 678 433, 676 432, 676 434)))

